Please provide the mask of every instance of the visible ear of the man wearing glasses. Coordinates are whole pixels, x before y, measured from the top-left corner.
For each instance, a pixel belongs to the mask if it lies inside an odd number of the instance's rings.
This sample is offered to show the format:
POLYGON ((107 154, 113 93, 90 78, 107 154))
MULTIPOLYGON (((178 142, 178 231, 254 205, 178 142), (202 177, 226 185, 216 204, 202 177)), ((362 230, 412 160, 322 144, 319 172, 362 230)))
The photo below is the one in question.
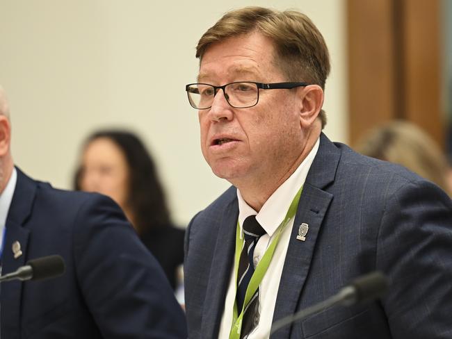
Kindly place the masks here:
POLYGON ((323 90, 319 85, 307 85, 298 89, 300 92, 300 124, 311 126, 323 106, 323 90))

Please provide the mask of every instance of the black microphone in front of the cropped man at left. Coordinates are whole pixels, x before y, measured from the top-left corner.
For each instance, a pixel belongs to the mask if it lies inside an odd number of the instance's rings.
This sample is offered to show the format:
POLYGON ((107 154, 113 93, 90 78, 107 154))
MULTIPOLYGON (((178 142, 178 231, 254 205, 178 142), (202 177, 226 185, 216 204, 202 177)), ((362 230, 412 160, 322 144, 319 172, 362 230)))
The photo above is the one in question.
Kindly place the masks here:
POLYGON ((15 272, 0 276, 0 283, 14 279, 45 280, 55 278, 65 272, 65 261, 61 256, 43 256, 42 258, 28 261, 26 265, 19 267, 15 272))

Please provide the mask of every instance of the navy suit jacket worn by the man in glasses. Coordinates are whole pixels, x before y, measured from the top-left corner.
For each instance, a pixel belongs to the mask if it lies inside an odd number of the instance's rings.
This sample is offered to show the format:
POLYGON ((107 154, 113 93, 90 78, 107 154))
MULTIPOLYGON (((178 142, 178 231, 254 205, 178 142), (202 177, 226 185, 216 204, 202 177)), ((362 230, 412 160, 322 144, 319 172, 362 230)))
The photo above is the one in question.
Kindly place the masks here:
MULTIPOLYGON (((238 215, 236 189, 229 188, 186 231, 190 338, 218 336, 238 215)), ((389 277, 381 301, 330 308, 271 338, 452 338, 451 199, 403 167, 356 154, 322 134, 298 205, 273 321, 373 270, 389 277), (302 222, 309 224, 305 242, 296 240, 302 222)))

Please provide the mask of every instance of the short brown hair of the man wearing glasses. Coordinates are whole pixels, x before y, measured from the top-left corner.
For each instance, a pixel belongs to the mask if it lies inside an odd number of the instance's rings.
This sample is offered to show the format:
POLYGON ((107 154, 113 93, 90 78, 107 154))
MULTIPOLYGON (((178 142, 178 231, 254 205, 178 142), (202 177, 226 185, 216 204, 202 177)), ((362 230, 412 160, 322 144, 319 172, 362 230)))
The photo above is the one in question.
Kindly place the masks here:
MULTIPOLYGON (((287 81, 305 81, 320 85, 330 73, 330 56, 323 36, 311 19, 296 10, 280 12, 262 7, 245 7, 226 13, 202 35, 196 47, 196 57, 202 60, 213 43, 259 31, 273 41, 276 55, 273 63, 287 81)), ((322 128, 326 115, 319 115, 322 128)))

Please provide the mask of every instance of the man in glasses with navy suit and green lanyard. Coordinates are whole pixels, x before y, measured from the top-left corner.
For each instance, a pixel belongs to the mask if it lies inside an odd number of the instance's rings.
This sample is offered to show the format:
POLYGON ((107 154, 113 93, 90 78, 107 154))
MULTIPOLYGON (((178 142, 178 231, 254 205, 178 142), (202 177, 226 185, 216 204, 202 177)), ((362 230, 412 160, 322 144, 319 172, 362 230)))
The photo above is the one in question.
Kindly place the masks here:
POLYGON ((275 320, 380 270, 390 282, 382 299, 326 309, 271 338, 452 338, 451 199, 322 133, 330 61, 310 19, 234 10, 196 56, 186 91, 202 153, 233 186, 186 232, 189 337, 268 338, 275 320))

